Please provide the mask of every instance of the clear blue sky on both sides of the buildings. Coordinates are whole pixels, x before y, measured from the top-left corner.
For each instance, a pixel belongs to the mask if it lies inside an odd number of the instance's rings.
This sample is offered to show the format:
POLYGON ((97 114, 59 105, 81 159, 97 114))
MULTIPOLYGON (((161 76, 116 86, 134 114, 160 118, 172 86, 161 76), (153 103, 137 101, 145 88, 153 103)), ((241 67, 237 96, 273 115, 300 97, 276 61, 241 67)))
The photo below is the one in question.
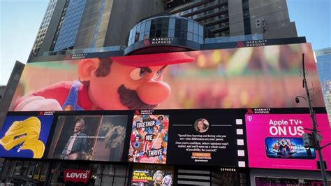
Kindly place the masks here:
MULTIPOLYGON (((313 49, 331 47, 331 0, 287 0, 290 21, 313 49)), ((15 61, 26 63, 48 0, 0 0, 0 85, 15 61)))

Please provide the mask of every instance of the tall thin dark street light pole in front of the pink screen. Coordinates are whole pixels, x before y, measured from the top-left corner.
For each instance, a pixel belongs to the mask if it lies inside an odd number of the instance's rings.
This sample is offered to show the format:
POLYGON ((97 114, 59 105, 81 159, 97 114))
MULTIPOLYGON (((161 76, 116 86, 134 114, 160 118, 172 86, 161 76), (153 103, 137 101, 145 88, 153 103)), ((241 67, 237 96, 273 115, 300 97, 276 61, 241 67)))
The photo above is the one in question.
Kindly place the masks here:
MULTIPOLYGON (((310 99, 310 94, 309 94, 309 89, 308 89, 308 85, 307 85, 307 80, 306 80, 306 71, 304 69, 304 54, 302 54, 302 76, 303 76, 303 87, 306 90, 307 93, 307 102, 308 102, 308 108, 309 108, 309 114, 311 117, 311 122, 313 123, 313 132, 312 132, 312 136, 314 138, 314 141, 316 143, 315 147, 316 150, 318 152, 318 157, 319 157, 319 162, 321 164, 321 173, 322 173, 322 177, 323 177, 323 184, 326 186, 328 185, 328 178, 326 176, 325 173, 325 166, 324 166, 324 162, 323 162, 323 157, 322 157, 322 148, 318 139, 318 134, 317 134, 317 124, 316 124, 316 119, 314 116, 314 110, 313 110, 313 106, 312 106, 312 100, 310 99)), ((324 146, 325 147, 325 146, 324 146)))

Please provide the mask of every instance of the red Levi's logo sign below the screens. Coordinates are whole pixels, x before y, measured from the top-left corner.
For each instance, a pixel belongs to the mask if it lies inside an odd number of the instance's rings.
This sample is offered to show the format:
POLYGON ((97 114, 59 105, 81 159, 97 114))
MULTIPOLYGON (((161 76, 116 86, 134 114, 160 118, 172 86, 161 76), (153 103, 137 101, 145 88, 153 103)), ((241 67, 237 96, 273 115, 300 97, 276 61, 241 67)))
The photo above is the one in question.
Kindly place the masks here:
POLYGON ((64 169, 64 182, 87 183, 91 171, 81 169, 64 169))

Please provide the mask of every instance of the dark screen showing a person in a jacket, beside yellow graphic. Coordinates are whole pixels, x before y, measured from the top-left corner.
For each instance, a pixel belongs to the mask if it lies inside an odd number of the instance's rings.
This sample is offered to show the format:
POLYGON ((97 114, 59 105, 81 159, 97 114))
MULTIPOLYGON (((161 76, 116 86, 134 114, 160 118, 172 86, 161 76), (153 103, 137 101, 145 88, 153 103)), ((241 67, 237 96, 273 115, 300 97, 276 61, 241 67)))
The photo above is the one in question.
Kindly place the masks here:
POLYGON ((48 158, 123 161, 127 115, 59 115, 48 158))

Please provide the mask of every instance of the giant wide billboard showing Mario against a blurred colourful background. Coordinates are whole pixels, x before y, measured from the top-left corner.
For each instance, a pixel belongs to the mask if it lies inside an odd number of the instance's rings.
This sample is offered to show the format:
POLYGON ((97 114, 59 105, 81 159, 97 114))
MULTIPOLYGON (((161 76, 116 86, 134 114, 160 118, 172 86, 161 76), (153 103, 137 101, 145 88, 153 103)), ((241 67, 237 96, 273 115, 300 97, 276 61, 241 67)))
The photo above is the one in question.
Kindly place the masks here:
POLYGON ((27 64, 10 110, 304 107, 305 53, 314 106, 324 106, 309 43, 27 64))

